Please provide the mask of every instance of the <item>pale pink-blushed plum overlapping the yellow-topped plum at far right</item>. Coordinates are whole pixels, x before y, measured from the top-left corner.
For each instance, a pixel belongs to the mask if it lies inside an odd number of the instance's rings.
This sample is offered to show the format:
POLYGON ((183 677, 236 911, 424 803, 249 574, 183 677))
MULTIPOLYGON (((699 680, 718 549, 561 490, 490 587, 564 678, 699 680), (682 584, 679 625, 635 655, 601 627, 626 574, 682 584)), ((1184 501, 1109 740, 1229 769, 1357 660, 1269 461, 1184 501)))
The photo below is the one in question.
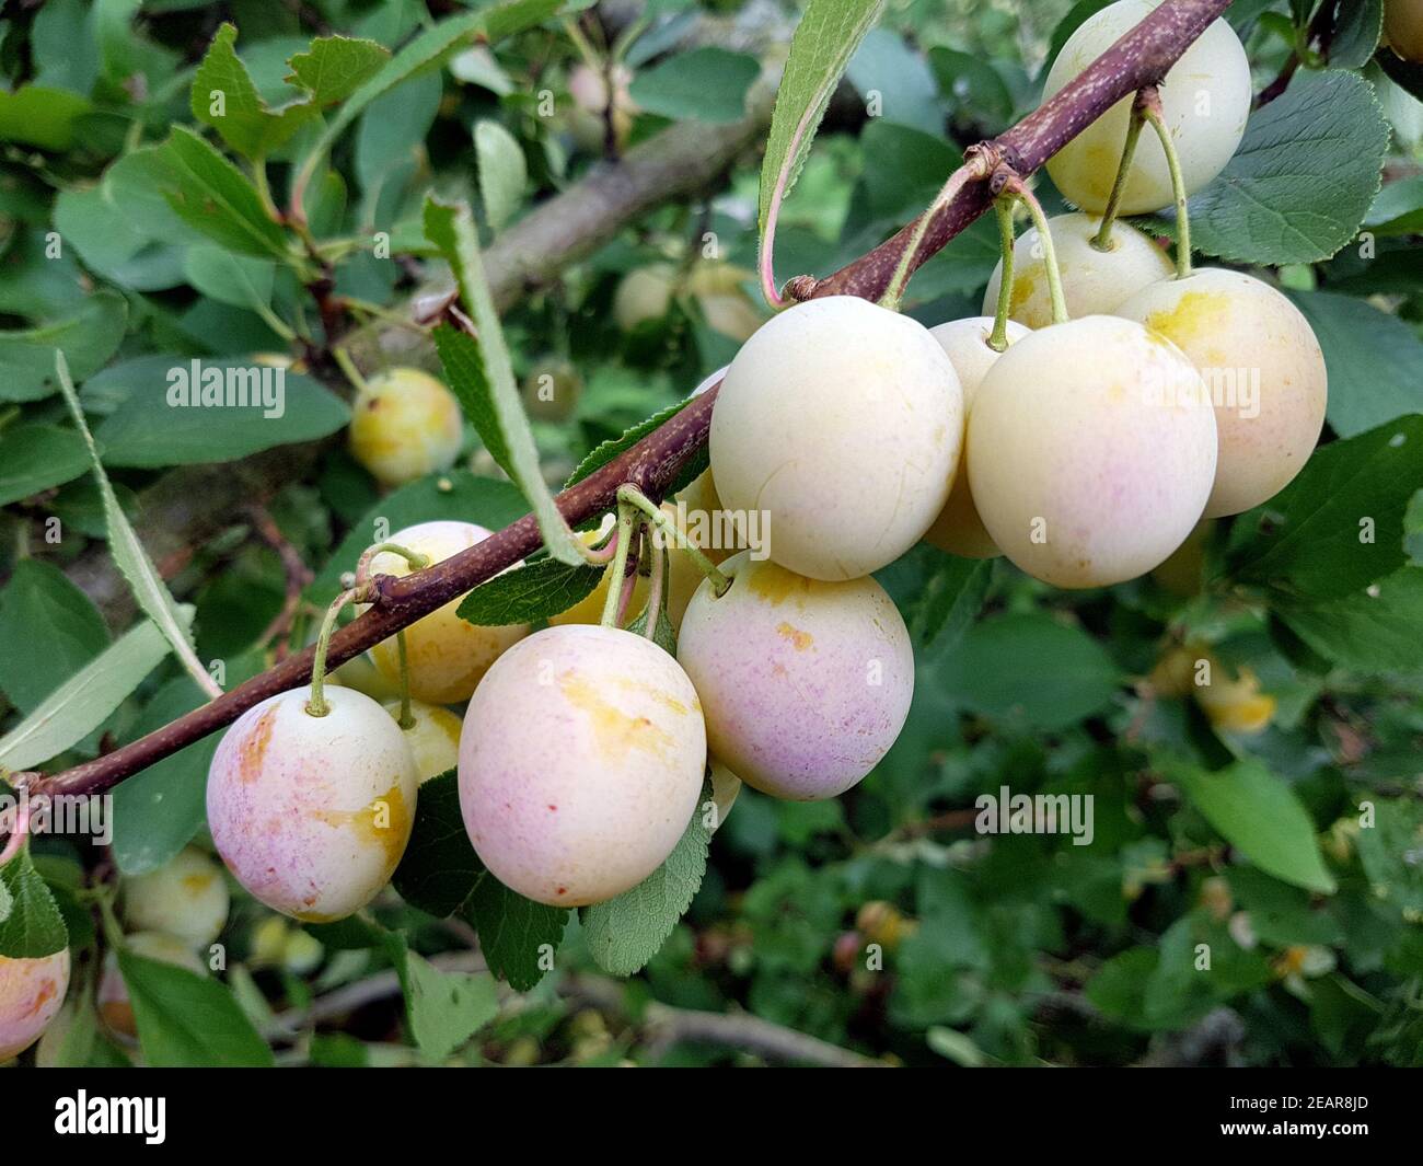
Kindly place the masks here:
POLYGON ((1114 316, 1053 325, 1003 353, 973 399, 968 443, 983 525, 1054 587, 1161 564, 1215 476, 1215 413, 1195 367, 1114 316))

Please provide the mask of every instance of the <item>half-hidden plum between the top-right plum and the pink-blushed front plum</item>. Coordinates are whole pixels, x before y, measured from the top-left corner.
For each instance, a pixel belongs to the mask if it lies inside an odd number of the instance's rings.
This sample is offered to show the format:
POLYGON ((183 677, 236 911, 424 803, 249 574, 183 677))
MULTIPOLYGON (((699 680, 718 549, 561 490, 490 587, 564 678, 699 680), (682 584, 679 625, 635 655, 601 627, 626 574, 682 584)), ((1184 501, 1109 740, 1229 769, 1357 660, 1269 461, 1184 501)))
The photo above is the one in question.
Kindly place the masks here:
MULTIPOLYGON (((1111 315, 1117 305, 1148 283, 1168 279, 1174 271, 1170 256, 1151 239, 1126 224, 1111 225, 1111 251, 1097 251, 1093 236, 1101 229, 1100 218, 1057 215, 1047 221, 1053 253, 1063 283, 1067 315, 1111 315)), ((993 268, 993 278, 983 293, 983 315, 998 310, 998 290, 1003 263, 993 268)), ((1047 290, 1047 265, 1037 241, 1037 228, 1029 228, 1013 243, 1013 295, 1007 313, 1029 327, 1047 327, 1053 322, 1052 296, 1047 290)), ((963 379, 962 370, 959 379, 963 379)))

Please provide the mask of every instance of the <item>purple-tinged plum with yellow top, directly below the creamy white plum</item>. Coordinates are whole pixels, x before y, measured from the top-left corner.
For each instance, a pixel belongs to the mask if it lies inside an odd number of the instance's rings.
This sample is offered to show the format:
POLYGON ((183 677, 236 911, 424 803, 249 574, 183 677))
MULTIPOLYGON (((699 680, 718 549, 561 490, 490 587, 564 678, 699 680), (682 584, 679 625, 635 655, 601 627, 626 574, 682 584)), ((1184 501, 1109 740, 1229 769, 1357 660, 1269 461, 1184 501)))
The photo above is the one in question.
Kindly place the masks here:
POLYGON ((712 755, 763 793, 835 797, 894 745, 914 695, 909 632, 869 578, 825 582, 748 551, 687 606, 677 659, 702 698, 712 755))

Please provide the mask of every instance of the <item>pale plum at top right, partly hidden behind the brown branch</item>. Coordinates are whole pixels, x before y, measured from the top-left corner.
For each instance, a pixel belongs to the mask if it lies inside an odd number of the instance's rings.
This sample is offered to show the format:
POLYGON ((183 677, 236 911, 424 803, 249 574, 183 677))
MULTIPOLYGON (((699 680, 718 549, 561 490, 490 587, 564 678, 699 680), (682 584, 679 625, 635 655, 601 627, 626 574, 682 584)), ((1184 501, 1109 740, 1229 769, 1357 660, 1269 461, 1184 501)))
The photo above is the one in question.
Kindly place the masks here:
MULTIPOLYGON (((1153 0, 1117 0, 1083 21, 1053 61, 1043 87, 1043 101, 1056 95, 1155 7, 1153 0)), ((1164 121, 1181 159, 1188 194, 1201 189, 1225 169, 1245 134, 1252 100, 1245 48, 1229 24, 1215 20, 1181 54, 1161 83, 1164 121)), ((1047 172, 1063 196, 1093 215, 1100 215, 1111 196, 1131 117, 1131 101, 1130 97, 1121 98, 1047 159, 1047 172)), ((1165 152, 1148 125, 1143 128, 1137 142, 1120 212, 1140 215, 1160 211, 1173 201, 1165 152)))

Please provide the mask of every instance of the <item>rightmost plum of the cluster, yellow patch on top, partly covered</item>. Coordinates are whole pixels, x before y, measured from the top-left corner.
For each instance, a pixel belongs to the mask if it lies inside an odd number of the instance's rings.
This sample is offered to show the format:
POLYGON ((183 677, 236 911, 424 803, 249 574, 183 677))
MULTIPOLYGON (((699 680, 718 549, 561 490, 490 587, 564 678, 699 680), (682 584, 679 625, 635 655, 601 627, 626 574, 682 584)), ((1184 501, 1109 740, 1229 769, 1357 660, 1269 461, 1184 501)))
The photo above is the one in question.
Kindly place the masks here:
POLYGON ((1208 518, 1272 498, 1319 440, 1329 376, 1313 329, 1268 283, 1224 268, 1153 283, 1117 309, 1180 347, 1215 403, 1220 456, 1208 518))

